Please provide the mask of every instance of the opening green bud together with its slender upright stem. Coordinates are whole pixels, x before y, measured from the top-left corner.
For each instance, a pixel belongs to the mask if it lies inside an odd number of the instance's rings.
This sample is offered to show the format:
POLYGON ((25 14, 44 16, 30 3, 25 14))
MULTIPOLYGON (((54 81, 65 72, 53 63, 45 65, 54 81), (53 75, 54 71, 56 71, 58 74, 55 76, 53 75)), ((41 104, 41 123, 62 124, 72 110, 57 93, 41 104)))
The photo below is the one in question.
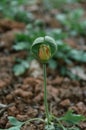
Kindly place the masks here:
POLYGON ((46 112, 46 123, 47 126, 50 124, 50 115, 47 103, 47 88, 46 88, 46 63, 55 54, 57 50, 56 42, 49 36, 38 37, 32 44, 32 53, 34 56, 43 64, 44 71, 44 105, 46 112))

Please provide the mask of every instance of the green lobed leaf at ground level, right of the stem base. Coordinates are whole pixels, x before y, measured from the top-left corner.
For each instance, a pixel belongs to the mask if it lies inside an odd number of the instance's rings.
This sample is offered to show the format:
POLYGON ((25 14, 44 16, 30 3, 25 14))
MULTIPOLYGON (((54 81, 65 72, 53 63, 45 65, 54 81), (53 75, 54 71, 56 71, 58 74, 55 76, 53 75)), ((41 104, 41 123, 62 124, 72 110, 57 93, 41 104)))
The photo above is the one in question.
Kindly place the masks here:
POLYGON ((74 114, 72 110, 69 110, 60 120, 66 121, 71 124, 78 124, 80 121, 86 120, 86 118, 79 114, 74 114))

